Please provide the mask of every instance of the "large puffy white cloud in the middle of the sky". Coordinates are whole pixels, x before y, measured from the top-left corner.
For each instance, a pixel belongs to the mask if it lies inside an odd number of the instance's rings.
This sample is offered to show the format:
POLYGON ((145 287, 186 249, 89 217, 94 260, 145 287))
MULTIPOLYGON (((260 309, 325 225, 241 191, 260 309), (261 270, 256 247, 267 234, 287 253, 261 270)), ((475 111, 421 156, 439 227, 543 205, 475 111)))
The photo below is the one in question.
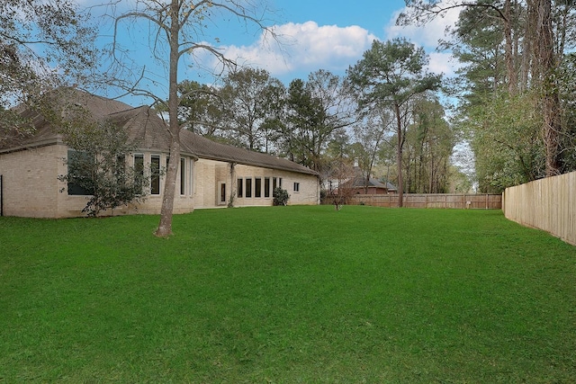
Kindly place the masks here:
POLYGON ((277 41, 263 34, 249 46, 220 47, 226 58, 238 64, 265 68, 272 76, 320 68, 343 71, 362 57, 376 36, 353 25, 320 26, 316 22, 276 25, 277 41))

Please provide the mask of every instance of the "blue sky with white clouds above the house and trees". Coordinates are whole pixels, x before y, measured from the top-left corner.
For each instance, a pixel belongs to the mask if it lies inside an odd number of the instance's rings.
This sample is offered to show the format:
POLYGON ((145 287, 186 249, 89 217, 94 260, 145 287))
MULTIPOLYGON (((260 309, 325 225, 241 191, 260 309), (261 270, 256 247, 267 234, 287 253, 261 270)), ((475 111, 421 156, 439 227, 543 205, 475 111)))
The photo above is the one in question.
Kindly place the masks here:
MULTIPOLYGON (((78 0, 86 3, 87 0, 78 0)), ((374 39, 389 40, 406 37, 424 47, 430 57, 429 70, 450 76, 455 63, 448 52, 437 52, 437 40, 444 37, 446 24, 455 22, 457 11, 425 27, 397 27, 395 20, 404 9, 403 0, 260 0, 266 3, 266 25, 273 28, 278 41, 266 38, 253 25, 224 17, 206 30, 206 42, 234 59, 240 65, 266 69, 272 76, 288 84, 294 78, 306 79, 319 69, 345 75, 369 49, 374 39)), ((139 65, 146 64, 157 84, 166 85, 165 68, 149 53, 148 27, 130 24, 119 30, 124 46, 139 65)), ((108 32, 109 33, 109 32, 108 32)), ((103 34, 106 34, 103 31, 103 34)), ((106 38, 103 38, 105 40, 106 38)), ((213 82, 211 69, 217 67, 211 55, 185 59, 180 81, 193 79, 213 82)))

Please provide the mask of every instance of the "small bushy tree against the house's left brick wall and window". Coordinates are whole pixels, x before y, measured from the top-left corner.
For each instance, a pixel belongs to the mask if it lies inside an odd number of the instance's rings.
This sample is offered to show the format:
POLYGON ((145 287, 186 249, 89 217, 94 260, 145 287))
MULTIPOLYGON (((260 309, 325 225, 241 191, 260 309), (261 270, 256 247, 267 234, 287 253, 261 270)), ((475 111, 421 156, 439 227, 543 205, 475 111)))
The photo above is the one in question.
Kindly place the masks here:
POLYGON ((73 149, 64 159, 67 174, 59 175, 58 180, 67 183, 68 194, 88 195, 82 211, 90 217, 143 201, 142 185, 148 184, 148 178, 141 165, 136 169, 125 163, 132 152, 126 132, 108 122, 82 122, 82 128, 78 122, 68 122, 63 129, 67 145, 73 149))

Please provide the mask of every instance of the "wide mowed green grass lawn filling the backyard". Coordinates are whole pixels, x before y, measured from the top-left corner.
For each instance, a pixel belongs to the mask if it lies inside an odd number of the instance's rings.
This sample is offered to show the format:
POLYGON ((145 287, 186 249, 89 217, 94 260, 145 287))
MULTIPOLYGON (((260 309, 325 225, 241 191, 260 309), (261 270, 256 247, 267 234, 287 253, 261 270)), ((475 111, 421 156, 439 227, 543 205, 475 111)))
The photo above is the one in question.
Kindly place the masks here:
POLYGON ((576 247, 498 210, 0 218, 0 382, 571 383, 576 247))

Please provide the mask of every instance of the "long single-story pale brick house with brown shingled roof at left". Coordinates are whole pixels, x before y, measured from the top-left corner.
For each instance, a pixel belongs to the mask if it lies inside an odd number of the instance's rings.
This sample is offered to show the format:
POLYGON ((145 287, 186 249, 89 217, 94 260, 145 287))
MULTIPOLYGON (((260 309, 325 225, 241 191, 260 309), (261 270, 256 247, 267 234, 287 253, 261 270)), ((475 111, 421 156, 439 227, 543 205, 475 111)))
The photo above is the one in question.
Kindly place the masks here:
MULTIPOLYGON (((166 123, 148 106, 128 104, 67 88, 65 102, 81 105, 94 119, 112 121, 125 129, 138 149, 126 158, 129 165, 164 167, 169 157, 170 138, 166 123)), ((24 113, 24 112, 23 112, 24 113)), ((58 127, 41 116, 34 118, 35 132, 17 144, 0 138, 0 201, 5 216, 68 218, 83 216, 86 196, 68 191, 58 175, 67 174, 69 150, 58 127), (4 144, 3 144, 4 143, 4 144)), ((319 204, 319 175, 287 159, 211 141, 182 129, 181 159, 174 201, 175 213, 194 209, 268 206, 273 189, 290 194, 289 204, 319 204)), ((157 214, 162 204, 164 177, 152 179, 145 201, 105 211, 106 215, 157 214)))

